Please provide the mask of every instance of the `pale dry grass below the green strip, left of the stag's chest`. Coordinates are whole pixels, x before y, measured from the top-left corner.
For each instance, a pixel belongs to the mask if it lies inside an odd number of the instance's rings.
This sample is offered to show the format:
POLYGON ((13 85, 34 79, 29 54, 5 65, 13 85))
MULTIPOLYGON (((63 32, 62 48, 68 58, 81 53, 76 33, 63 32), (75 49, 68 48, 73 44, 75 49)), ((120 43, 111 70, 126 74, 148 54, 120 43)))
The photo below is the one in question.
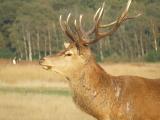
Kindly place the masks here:
POLYGON ((94 120, 71 97, 0 92, 0 120, 94 120))

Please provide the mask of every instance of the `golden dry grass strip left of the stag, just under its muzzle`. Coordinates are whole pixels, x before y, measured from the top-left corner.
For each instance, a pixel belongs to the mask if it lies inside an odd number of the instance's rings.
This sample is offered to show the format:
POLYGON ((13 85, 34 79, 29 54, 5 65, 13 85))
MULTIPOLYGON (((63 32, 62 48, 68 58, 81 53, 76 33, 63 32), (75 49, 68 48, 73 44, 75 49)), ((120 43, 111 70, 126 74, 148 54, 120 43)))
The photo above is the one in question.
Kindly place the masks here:
POLYGON ((7 65, 0 66, 0 80, 6 83, 22 81, 60 81, 63 78, 54 72, 46 71, 39 65, 7 65))

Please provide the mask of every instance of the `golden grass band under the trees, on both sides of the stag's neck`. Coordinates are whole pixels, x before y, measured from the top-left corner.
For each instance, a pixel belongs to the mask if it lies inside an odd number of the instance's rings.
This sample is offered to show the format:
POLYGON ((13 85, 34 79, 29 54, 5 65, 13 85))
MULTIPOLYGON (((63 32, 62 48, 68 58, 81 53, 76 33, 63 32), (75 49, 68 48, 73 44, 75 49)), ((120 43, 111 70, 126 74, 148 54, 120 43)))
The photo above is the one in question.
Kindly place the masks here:
MULTIPOLYGON (((147 78, 160 78, 160 63, 121 63, 101 64, 112 75, 138 75, 147 78)), ((52 71, 46 71, 39 65, 1 65, 0 81, 17 83, 24 81, 64 81, 64 78, 52 71)))

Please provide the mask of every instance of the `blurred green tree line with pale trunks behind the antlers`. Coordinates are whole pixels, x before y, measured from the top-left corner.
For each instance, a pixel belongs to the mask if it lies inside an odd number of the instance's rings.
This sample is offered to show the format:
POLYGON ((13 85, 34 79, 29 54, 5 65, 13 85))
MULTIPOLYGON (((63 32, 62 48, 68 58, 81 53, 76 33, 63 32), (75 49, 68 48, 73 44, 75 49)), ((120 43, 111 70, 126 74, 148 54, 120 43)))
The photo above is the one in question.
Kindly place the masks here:
MULTIPOLYGON (((83 26, 90 29, 97 8, 106 2, 103 23, 116 19, 127 0, 0 0, 0 57, 32 61, 63 47, 67 37, 59 16, 84 14, 83 26)), ((129 15, 142 13, 121 25, 112 36, 92 46, 99 60, 160 61, 160 0, 134 0, 129 15)))

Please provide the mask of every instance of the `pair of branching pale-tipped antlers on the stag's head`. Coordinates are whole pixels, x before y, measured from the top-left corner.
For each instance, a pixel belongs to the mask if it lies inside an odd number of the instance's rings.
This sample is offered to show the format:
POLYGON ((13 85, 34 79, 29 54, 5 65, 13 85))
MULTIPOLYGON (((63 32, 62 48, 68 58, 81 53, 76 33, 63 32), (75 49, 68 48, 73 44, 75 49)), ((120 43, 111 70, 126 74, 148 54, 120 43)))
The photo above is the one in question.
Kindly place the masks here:
POLYGON ((93 21, 94 21, 94 25, 91 28, 91 30, 89 30, 88 32, 85 32, 85 30, 82 27, 82 18, 83 15, 79 16, 79 23, 77 24, 77 20, 75 19, 74 21, 74 27, 75 27, 75 34, 73 34, 73 31, 71 31, 69 25, 68 25, 68 21, 70 19, 70 15, 68 15, 67 20, 64 21, 62 23, 62 17, 60 16, 60 25, 61 28, 63 30, 63 32, 73 41, 73 42, 82 42, 85 45, 89 45, 89 44, 93 44, 98 42, 99 40, 101 40, 101 38, 106 37, 106 36, 110 36, 112 35, 118 28, 119 26, 126 20, 129 19, 134 19, 139 17, 141 14, 137 14, 135 16, 132 17, 128 17, 128 10, 129 7, 131 5, 132 0, 128 0, 127 6, 125 8, 125 10, 122 12, 122 14, 117 18, 117 20, 109 23, 109 24, 104 24, 102 25, 100 22, 102 21, 102 17, 103 17, 103 13, 104 13, 104 6, 105 3, 102 4, 102 7, 98 8, 98 10, 96 11, 94 17, 93 17, 93 21), (112 27, 110 31, 108 32, 100 32, 100 28, 107 28, 107 27, 112 27), (91 41, 86 41, 85 38, 88 37, 91 34, 95 34, 95 39, 91 40, 91 41), (78 37, 78 38, 77 38, 78 37))

